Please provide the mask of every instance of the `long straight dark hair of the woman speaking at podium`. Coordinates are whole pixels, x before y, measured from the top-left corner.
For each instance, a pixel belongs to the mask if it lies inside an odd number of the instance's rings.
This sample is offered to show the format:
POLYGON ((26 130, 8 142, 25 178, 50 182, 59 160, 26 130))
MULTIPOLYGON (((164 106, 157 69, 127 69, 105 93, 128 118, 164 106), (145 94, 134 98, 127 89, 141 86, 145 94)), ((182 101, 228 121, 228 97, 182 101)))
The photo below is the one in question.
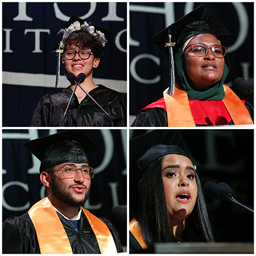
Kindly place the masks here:
MULTIPOLYGON (((139 183, 137 209, 134 217, 139 222, 142 236, 148 246, 154 242, 174 242, 170 232, 166 196, 162 179, 162 157, 144 171, 139 183)), ((185 221, 184 242, 214 242, 203 189, 196 174, 197 200, 191 215, 185 221)))

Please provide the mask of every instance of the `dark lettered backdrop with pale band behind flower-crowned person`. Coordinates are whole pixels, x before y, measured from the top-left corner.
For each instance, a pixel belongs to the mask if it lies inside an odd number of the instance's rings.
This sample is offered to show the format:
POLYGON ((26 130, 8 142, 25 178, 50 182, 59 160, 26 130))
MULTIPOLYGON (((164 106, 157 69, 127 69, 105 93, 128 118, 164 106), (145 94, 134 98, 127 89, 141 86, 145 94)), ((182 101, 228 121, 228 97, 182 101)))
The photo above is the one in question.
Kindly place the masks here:
MULTIPOLYGON (((44 94, 55 89, 56 53, 52 53, 71 15, 114 31, 94 82, 126 93, 127 4, 125 2, 5 2, 2 3, 3 126, 30 126, 44 94)), ((70 83, 61 63, 60 88, 70 83)))

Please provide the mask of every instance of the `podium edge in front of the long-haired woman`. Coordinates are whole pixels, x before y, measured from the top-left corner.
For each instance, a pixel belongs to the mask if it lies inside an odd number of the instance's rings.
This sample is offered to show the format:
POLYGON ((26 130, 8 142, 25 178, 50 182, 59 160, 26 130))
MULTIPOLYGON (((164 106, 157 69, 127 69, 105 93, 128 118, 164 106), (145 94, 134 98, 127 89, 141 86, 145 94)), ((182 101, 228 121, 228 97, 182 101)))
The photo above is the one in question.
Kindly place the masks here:
POLYGON ((253 243, 221 242, 221 243, 155 243, 154 253, 253 253, 253 243))

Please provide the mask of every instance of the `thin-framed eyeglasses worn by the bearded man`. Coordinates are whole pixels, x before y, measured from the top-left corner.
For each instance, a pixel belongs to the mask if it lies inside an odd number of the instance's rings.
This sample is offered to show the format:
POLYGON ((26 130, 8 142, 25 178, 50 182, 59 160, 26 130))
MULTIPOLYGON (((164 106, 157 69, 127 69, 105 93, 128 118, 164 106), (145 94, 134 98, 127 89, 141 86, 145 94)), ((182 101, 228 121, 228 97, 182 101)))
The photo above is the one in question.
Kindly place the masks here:
MULTIPOLYGON (((71 165, 67 165, 64 166, 63 168, 59 169, 59 170, 55 170, 55 171, 51 171, 51 172, 57 172, 57 171, 62 171, 62 174, 65 178, 72 178, 75 177, 77 175, 78 171, 82 172, 82 176, 85 179, 92 179, 94 177, 94 169, 92 167, 89 166, 85 166, 85 167, 81 167, 81 168, 77 168, 75 165, 71 166, 71 165)), ((48 172, 48 173, 51 173, 48 172)))

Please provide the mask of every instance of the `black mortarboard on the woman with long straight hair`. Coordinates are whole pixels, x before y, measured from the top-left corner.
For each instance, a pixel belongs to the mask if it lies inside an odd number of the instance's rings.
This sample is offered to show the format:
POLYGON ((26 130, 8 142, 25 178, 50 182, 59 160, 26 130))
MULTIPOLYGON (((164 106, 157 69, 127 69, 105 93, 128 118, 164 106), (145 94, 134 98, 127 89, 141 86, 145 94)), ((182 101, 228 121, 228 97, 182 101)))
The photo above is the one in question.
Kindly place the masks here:
POLYGON ((130 167, 135 176, 142 176, 146 167, 168 154, 191 159, 179 130, 154 130, 130 140, 130 167))

